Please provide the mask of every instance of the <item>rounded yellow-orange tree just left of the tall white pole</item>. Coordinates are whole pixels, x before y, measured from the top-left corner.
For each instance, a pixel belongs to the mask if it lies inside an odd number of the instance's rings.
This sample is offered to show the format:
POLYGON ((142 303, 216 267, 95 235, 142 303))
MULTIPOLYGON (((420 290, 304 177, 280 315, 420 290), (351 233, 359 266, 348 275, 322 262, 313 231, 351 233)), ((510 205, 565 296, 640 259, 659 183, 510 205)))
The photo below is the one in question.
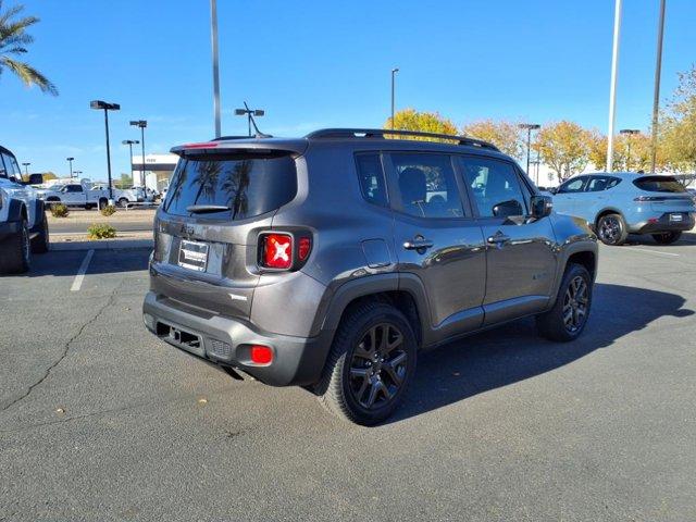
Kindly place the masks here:
POLYGON ((587 166, 593 138, 576 123, 561 121, 544 125, 532 147, 562 183, 587 166))

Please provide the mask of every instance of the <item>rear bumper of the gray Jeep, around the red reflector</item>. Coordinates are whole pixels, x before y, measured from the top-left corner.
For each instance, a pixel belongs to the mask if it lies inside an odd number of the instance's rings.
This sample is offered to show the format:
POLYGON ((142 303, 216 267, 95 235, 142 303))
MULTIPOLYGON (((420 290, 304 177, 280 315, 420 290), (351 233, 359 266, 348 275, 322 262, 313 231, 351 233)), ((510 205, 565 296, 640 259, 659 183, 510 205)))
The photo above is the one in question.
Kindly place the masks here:
POLYGON ((328 352, 325 333, 309 338, 264 333, 246 321, 188 309, 153 291, 145 297, 142 316, 146 327, 172 346, 207 362, 239 369, 272 386, 316 383, 328 352), (254 344, 270 346, 273 362, 251 362, 254 344))

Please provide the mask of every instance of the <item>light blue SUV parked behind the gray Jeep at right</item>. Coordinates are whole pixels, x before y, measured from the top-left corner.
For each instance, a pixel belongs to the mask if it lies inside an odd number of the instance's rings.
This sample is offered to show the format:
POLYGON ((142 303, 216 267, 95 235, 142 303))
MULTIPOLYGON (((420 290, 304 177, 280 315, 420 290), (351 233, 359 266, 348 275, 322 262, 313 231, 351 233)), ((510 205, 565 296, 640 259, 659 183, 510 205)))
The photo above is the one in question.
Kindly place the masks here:
POLYGON ((622 245, 629 234, 669 245, 694 227, 696 215, 694 199, 674 177, 632 172, 572 177, 556 189, 554 208, 587 221, 606 245, 622 245))

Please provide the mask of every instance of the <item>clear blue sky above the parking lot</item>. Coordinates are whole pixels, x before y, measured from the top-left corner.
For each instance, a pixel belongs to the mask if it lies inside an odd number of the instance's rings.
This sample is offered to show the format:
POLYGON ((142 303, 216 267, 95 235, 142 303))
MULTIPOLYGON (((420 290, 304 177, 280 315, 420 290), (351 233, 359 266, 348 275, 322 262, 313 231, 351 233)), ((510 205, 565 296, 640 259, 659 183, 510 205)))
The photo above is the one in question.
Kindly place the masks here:
MULTIPOLYGON (((14 4, 15 0, 5 0, 14 4)), ((658 0, 623 10, 617 125, 647 128, 658 0)), ((29 61, 60 89, 53 98, 0 76, 0 144, 35 172, 105 178, 103 119, 112 113, 112 162, 128 172, 123 139, 149 121, 147 152, 213 135, 207 0, 24 0, 41 22, 29 61)), ((669 0, 662 92, 696 62, 696 2, 669 0)), ((607 128, 613 1, 219 0, 223 133, 232 115, 263 108, 262 130, 303 135, 325 126, 382 126, 389 71, 397 108, 439 111, 457 124, 485 117, 570 119, 607 128)))

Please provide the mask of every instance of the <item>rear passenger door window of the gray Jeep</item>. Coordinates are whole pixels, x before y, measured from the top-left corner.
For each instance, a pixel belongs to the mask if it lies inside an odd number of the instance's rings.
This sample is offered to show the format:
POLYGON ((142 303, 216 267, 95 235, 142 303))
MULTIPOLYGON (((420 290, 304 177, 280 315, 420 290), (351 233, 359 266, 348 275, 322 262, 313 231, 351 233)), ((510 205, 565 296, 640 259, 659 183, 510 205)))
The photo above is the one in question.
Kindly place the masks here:
POLYGON ((463 217, 451 158, 415 152, 390 154, 403 212, 419 217, 463 217))

